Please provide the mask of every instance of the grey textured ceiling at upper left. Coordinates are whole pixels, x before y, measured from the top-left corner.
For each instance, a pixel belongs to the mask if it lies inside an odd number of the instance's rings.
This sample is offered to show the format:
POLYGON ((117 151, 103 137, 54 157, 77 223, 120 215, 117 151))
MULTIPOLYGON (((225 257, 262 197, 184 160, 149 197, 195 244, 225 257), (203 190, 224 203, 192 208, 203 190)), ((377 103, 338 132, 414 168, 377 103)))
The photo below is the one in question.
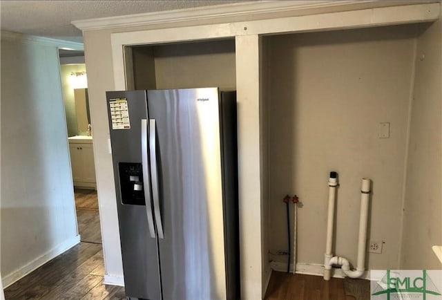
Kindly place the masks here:
POLYGON ((82 42, 71 21, 143 12, 213 6, 236 1, 1 1, 0 28, 10 32, 82 42))

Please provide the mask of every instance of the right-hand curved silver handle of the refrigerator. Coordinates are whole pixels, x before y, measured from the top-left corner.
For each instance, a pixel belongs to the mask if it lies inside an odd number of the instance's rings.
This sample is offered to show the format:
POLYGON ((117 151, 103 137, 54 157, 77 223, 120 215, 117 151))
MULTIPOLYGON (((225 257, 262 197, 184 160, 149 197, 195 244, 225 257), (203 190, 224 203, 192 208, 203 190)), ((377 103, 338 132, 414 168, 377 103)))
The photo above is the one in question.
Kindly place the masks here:
POLYGON ((157 135, 155 119, 149 119, 149 151, 151 153, 152 196, 153 209, 155 212, 155 223, 157 224, 158 237, 164 238, 160 212, 160 193, 158 189, 157 135))

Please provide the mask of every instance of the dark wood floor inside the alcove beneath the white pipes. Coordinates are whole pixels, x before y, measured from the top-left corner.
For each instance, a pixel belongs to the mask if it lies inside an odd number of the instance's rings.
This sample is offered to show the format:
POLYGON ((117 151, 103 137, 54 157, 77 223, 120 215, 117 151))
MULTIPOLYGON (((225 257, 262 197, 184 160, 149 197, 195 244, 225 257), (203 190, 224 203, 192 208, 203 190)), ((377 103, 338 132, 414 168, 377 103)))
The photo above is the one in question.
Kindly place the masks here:
POLYGON ((368 300, 369 281, 351 280, 272 272, 265 300, 368 300))

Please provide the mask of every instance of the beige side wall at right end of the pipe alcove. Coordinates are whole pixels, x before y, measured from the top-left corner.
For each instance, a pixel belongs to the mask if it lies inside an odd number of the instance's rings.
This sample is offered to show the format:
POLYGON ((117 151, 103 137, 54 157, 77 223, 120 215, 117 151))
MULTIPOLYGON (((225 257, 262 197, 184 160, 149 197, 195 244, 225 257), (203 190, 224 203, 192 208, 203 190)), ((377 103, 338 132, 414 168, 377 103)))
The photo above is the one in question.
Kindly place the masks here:
POLYGON ((442 21, 422 25, 419 33, 401 268, 440 270, 432 246, 442 246, 442 21))

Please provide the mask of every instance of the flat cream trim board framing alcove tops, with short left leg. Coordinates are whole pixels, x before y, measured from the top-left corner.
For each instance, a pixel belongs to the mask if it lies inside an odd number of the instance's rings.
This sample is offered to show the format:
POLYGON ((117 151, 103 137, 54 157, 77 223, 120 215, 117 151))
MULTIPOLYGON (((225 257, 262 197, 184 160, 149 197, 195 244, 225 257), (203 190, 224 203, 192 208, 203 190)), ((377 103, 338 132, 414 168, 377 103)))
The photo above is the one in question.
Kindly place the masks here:
POLYGON ((238 38, 244 35, 273 35, 287 32, 314 32, 413 24, 434 21, 439 19, 439 15, 440 3, 425 2, 416 5, 346 10, 278 19, 114 32, 111 33, 114 87, 121 90, 126 89, 124 46, 226 37, 238 38))

